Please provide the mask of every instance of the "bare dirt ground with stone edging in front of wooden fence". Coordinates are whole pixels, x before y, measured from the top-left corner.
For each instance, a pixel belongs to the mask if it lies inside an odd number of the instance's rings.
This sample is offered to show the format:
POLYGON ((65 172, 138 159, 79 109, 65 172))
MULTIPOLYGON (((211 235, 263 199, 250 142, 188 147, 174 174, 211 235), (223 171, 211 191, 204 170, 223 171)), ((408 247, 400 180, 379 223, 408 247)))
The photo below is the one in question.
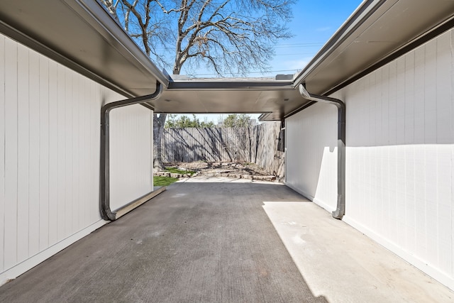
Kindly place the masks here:
POLYGON ((165 167, 177 167, 195 171, 195 175, 212 177, 232 177, 256 180, 275 180, 275 176, 262 167, 250 162, 172 162, 165 167))

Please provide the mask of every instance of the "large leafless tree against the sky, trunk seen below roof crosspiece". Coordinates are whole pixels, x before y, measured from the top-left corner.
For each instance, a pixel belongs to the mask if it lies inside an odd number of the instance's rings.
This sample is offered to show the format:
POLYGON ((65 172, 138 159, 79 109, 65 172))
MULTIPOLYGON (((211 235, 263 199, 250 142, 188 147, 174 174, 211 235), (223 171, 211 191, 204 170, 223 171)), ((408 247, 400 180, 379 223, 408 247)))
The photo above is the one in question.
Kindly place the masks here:
MULTIPOLYGON (((295 0, 99 0, 157 65, 174 75, 204 66, 219 76, 267 72, 295 0)), ((166 114, 155 114, 155 170, 166 114)))

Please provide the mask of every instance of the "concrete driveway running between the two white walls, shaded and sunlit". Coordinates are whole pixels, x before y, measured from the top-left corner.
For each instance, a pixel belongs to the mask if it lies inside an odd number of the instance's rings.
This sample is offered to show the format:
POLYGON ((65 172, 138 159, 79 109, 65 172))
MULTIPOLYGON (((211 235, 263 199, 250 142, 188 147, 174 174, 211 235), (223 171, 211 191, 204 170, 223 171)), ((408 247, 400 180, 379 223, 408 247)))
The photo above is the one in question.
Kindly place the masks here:
POLYGON ((446 287, 292 189, 238 180, 172 184, 0 287, 0 302, 453 298, 446 287))

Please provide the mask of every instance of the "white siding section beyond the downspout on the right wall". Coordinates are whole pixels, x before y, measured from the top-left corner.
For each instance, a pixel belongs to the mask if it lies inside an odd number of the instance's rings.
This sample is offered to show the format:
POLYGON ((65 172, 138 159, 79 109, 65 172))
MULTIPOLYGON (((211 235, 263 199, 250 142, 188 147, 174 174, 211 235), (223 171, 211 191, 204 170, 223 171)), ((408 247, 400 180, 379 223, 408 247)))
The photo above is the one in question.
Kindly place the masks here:
POLYGON ((314 104, 285 120, 286 184, 333 211, 337 202, 337 108, 314 104))

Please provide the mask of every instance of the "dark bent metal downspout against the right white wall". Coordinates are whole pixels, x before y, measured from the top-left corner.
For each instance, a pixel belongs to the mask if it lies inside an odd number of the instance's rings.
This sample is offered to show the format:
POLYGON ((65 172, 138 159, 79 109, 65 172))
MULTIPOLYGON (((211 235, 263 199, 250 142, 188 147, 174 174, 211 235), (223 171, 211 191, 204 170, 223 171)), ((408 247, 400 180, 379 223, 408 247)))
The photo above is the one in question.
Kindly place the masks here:
POLYGON ((299 93, 304 99, 333 104, 338 109, 338 202, 332 215, 342 219, 345 214, 345 104, 339 99, 311 94, 304 84, 299 84, 299 93))

